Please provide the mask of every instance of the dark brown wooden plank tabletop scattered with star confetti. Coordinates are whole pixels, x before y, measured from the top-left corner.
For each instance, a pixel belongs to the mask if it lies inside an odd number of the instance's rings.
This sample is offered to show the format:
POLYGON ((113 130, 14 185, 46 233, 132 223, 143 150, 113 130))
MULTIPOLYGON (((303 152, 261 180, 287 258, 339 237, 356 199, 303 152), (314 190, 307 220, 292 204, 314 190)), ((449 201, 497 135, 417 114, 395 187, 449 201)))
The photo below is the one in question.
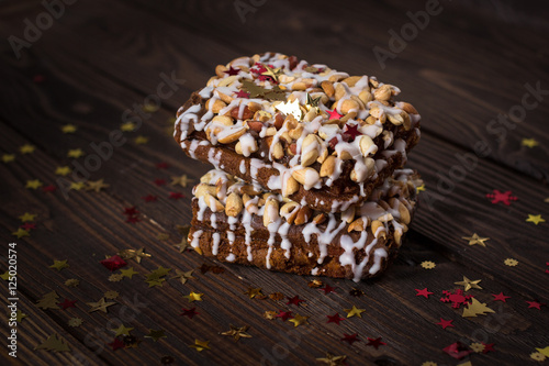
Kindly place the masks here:
POLYGON ((547 5, 402 3, 3 1, 0 273, 14 248, 18 286, 10 295, 2 276, 2 334, 11 302, 19 322, 18 357, 4 339, 2 364, 323 365, 330 353, 347 365, 477 366, 549 356, 547 5), (318 278, 335 287, 325 293, 309 287, 313 277, 180 251, 192 182, 172 180, 197 181, 210 167, 173 142, 176 110, 217 64, 265 51, 376 75, 422 113, 408 163, 425 180, 421 209, 379 279, 318 278), (494 203, 494 190, 512 193, 494 203), (474 233, 490 240, 469 245, 474 233), (113 273, 100 263, 139 248, 150 256, 113 273), (463 276, 481 287, 466 295, 493 312, 463 318, 463 306, 440 301, 444 291, 459 299, 463 276), (250 298, 257 289, 265 298, 250 298), (295 296, 304 302, 288 304, 295 296), (89 304, 101 299, 114 303, 89 304), (346 318, 352 306, 361 318, 346 318), (336 313, 345 320, 328 322, 336 313), (251 337, 222 334, 231 324, 251 337), (444 352, 456 342, 460 361, 444 352))

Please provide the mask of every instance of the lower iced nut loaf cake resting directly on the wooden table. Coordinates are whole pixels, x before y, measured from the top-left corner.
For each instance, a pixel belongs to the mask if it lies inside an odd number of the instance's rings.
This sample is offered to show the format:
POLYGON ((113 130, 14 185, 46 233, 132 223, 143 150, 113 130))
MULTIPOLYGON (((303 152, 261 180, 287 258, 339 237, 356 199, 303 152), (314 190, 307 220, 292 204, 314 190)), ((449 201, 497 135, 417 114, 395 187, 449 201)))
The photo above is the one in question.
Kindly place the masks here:
POLYGON ((358 281, 395 256, 419 184, 413 170, 396 170, 369 201, 328 214, 211 170, 193 190, 189 242, 221 262, 358 281))

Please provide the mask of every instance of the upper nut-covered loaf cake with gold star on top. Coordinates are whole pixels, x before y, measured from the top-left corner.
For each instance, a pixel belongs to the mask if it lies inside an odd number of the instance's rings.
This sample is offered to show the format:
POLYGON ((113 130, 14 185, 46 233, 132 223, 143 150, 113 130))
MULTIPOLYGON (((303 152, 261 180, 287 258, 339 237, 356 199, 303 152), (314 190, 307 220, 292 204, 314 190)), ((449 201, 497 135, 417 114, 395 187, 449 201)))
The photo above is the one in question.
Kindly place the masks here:
POLYGON ((401 168, 419 114, 369 76, 266 53, 219 65, 177 113, 193 158, 324 212, 346 210, 401 168))

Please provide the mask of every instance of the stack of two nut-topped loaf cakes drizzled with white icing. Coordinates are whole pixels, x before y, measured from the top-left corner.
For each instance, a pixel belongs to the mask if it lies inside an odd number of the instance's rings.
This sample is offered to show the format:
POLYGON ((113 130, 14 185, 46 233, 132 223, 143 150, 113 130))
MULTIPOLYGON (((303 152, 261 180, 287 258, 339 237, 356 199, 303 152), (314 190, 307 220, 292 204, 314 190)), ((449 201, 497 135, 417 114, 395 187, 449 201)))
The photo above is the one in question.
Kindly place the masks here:
POLYGON ((175 138, 215 169, 194 187, 189 242, 223 262, 359 280, 381 273, 415 208, 403 169, 419 114, 399 88, 267 53, 219 65, 175 138))

